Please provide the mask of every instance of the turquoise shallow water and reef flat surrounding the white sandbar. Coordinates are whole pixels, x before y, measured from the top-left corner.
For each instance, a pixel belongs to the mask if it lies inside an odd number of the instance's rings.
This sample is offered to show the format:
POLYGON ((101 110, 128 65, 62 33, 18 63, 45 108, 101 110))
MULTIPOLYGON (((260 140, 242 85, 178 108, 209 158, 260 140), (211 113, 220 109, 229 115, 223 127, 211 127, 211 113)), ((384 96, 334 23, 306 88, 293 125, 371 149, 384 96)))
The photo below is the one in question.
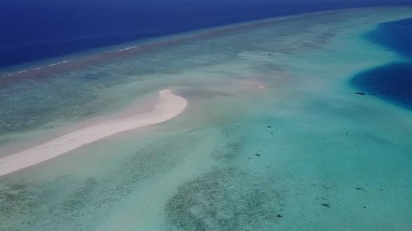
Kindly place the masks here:
POLYGON ((0 230, 410 230, 411 111, 348 84, 402 60, 362 34, 406 17, 306 15, 9 83, 1 148, 169 86, 189 107, 0 177, 0 230))

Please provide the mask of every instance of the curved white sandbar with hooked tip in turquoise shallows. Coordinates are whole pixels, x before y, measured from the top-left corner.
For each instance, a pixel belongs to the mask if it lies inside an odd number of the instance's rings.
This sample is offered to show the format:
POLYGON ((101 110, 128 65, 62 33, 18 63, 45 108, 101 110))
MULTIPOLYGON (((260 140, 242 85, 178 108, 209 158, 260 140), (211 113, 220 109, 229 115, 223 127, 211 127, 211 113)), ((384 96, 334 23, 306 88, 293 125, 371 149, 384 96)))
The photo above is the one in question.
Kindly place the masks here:
POLYGON ((187 106, 186 99, 165 89, 159 92, 159 101, 152 111, 127 118, 108 120, 84 127, 42 145, 0 159, 0 176, 41 163, 82 145, 98 141, 130 129, 165 122, 178 116, 187 106))

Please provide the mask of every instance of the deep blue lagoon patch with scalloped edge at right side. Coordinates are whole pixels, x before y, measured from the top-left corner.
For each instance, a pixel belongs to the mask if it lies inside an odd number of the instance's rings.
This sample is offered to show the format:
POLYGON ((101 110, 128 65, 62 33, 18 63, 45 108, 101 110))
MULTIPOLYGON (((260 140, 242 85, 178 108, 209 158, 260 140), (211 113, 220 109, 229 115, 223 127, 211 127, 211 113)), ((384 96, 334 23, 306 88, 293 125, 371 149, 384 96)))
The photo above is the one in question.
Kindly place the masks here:
POLYGON ((365 38, 397 52, 404 61, 365 70, 351 83, 365 94, 412 110, 412 19, 379 24, 365 38))

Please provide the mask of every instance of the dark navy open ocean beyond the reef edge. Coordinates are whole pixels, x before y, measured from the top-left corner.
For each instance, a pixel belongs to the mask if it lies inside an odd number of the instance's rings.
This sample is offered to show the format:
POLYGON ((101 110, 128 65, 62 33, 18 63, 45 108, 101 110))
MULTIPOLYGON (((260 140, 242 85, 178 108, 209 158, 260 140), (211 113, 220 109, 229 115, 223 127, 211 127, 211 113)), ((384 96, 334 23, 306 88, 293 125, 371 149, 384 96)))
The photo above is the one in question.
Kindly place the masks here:
POLYGON ((2 0, 0 67, 210 26, 408 0, 2 0))

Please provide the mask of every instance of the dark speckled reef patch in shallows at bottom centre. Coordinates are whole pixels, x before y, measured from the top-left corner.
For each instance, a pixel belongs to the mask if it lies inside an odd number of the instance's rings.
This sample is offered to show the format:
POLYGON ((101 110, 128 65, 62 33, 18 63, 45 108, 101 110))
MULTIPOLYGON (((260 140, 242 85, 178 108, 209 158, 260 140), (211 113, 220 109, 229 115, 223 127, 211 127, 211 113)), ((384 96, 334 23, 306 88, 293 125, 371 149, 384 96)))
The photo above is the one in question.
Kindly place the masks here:
POLYGON ((277 212, 284 197, 272 185, 233 168, 206 173, 179 186, 168 200, 168 223, 178 230, 258 230, 282 217, 277 212), (246 182, 251 183, 238 185, 246 182))

